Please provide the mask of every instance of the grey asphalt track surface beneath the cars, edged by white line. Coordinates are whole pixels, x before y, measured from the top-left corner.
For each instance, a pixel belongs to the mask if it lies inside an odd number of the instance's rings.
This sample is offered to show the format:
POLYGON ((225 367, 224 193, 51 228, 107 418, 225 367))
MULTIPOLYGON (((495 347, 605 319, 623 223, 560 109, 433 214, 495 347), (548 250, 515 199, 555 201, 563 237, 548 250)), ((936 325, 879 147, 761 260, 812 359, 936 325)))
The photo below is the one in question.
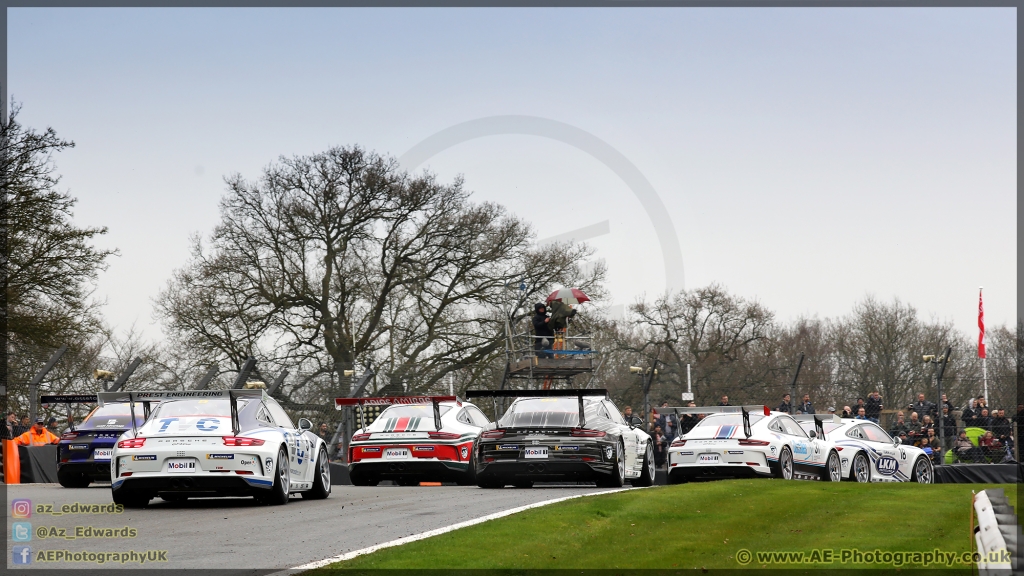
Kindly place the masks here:
MULTIPOLYGON (((111 504, 110 485, 62 488, 51 484, 6 486, 8 569, 221 569, 265 574, 358 550, 428 530, 443 528, 518 506, 594 492, 593 486, 540 486, 530 489, 476 487, 334 486, 326 500, 293 496, 284 506, 257 505, 252 498, 197 498, 165 502, 122 513, 40 513, 39 506, 111 504), (12 518, 17 499, 32 501, 31 518, 12 518), (12 524, 32 524, 32 540, 12 541, 12 524), (134 529, 134 537, 75 538, 76 527, 134 529), (40 528, 46 538, 40 538, 40 528), (55 529, 50 530, 51 528, 55 529), (65 537, 59 535, 63 529, 65 537), (102 564, 87 562, 13 564, 13 546, 39 550, 167 550, 167 562, 102 564)), ((83 528, 84 529, 84 528, 83 528)), ((427 568, 427 567, 425 567, 427 568)), ((220 574, 225 574, 221 572, 220 574)))

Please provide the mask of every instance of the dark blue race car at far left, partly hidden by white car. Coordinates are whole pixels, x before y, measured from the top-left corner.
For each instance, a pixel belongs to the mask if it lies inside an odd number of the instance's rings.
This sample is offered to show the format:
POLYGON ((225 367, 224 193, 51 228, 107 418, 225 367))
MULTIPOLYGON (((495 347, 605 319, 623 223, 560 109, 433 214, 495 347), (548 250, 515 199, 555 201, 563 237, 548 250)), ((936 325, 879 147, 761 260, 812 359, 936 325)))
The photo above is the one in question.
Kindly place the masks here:
MULTIPOLYGON (((67 404, 71 421, 72 404, 95 404, 95 395, 44 396, 43 405, 67 404)), ((135 414, 136 425, 145 421, 144 414, 135 414)), ((118 438, 131 429, 131 412, 127 403, 97 406, 76 426, 60 437, 57 444, 57 482, 65 488, 85 488, 89 484, 111 480, 111 454, 118 438)))

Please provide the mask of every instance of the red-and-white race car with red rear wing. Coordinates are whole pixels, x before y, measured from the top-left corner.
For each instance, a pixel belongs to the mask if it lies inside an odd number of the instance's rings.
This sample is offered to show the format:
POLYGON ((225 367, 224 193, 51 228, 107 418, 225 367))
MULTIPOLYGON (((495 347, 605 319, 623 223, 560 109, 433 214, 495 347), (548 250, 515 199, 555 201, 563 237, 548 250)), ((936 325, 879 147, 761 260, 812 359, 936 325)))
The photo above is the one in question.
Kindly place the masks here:
POLYGON ((348 475, 355 486, 393 480, 400 486, 453 481, 473 484, 473 447, 488 419, 454 396, 338 398, 335 406, 359 407, 360 428, 348 448, 348 475), (389 406, 370 425, 362 406, 389 406))

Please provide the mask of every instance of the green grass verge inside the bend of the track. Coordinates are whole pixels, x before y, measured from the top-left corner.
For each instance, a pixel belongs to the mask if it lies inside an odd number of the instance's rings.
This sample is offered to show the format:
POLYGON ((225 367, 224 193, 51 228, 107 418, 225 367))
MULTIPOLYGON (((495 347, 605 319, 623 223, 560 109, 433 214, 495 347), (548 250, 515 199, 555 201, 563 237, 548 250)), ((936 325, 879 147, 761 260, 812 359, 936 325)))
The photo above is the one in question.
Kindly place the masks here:
MULTIPOLYGON (((1017 505, 1016 485, 741 480, 665 486, 535 508, 329 568, 796 568, 756 559, 741 566, 736 553, 816 548, 964 552, 971 549, 972 490, 993 487, 1004 488, 1017 505)), ((893 567, 836 561, 799 568, 893 567)))

